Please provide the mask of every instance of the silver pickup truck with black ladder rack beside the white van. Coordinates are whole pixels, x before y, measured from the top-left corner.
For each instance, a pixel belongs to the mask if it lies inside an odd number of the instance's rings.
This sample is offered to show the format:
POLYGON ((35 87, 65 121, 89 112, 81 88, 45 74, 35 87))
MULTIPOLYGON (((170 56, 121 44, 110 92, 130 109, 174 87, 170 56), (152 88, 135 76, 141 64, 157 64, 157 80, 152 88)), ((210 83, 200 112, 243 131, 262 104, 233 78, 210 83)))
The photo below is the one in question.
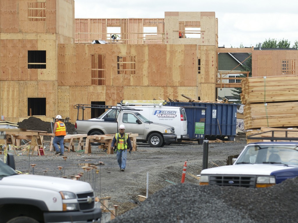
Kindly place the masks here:
POLYGON ((166 143, 176 142, 177 140, 174 127, 160 123, 153 123, 139 114, 137 109, 121 106, 83 104, 77 104, 74 107, 78 110, 75 123, 77 134, 115 134, 118 132, 119 125, 123 124, 125 125, 126 132, 139 134, 139 136, 136 137, 138 142, 148 142, 151 147, 162 147, 166 143), (114 117, 105 116, 104 119, 79 120, 79 111, 82 110, 82 112, 84 112, 86 108, 115 109, 115 111, 117 111, 115 114, 117 115, 114 117))

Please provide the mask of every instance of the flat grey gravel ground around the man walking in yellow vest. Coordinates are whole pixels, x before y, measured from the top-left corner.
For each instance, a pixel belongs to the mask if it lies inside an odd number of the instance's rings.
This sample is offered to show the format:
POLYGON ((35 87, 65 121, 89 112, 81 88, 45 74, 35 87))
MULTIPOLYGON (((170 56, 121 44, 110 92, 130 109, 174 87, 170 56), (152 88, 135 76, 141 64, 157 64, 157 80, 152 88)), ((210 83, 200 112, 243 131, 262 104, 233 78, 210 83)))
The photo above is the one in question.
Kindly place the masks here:
MULTIPOLYGON (((66 143, 67 145, 67 143, 66 143)), ((236 136, 235 142, 209 143, 208 167, 226 165, 230 155, 239 154, 246 145, 245 135, 236 136)), ((49 151, 49 141, 45 142, 45 154, 39 157, 37 151, 27 156, 26 151, 17 151, 16 169, 32 174, 30 164, 36 164, 35 174, 66 176, 74 178, 83 171, 83 166, 96 165, 99 174, 85 172, 82 179, 90 182, 99 197, 110 196, 109 208, 119 205, 118 215, 139 205, 138 195, 146 196, 147 172, 149 172, 148 196, 170 185, 181 182, 184 162, 187 162, 185 183, 198 185, 197 174, 202 169, 203 145, 197 142, 172 143, 162 148, 149 147, 147 143, 137 143, 137 151, 128 154, 125 172, 119 171, 116 154, 107 155, 103 149, 91 146, 91 154, 84 151, 65 152, 66 161, 49 151), (99 166, 99 162, 103 162, 99 166), (63 169, 59 171, 58 166, 63 169), (93 180, 94 179, 94 180, 93 180)), ((3 155, 0 155, 0 158, 3 155)))

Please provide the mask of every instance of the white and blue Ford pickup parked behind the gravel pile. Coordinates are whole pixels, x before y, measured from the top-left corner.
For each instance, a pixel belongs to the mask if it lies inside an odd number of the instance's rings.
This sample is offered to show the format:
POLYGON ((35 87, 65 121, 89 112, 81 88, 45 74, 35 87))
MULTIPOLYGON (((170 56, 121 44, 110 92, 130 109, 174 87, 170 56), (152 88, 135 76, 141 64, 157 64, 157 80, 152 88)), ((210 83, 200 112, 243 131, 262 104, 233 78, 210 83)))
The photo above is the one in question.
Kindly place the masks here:
MULTIPOLYGON (((287 131, 283 131, 285 133, 287 131)), ((201 171, 200 185, 238 186, 264 188, 298 176, 298 138, 273 137, 277 131, 263 134, 272 137, 250 137, 271 142, 249 143, 238 158, 233 158, 233 165, 214 167, 201 171), (288 141, 274 141, 288 140, 288 141), (291 142, 289 140, 295 140, 291 142)), ((291 131, 293 134, 293 131, 291 131)), ((298 131, 296 132, 298 135, 298 131)), ((248 137, 249 138, 249 137, 248 137)))

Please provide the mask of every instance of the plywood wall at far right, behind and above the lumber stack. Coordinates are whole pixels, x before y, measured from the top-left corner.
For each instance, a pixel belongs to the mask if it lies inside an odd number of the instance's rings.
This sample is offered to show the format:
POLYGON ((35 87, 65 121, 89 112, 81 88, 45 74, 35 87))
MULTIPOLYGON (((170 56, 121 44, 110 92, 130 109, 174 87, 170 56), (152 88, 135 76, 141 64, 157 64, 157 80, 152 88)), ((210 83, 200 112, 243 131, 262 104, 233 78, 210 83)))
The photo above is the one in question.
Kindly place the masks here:
POLYGON ((294 70, 297 74, 297 50, 254 50, 252 52, 253 77, 279 76, 282 74, 282 60, 294 60, 294 70))

